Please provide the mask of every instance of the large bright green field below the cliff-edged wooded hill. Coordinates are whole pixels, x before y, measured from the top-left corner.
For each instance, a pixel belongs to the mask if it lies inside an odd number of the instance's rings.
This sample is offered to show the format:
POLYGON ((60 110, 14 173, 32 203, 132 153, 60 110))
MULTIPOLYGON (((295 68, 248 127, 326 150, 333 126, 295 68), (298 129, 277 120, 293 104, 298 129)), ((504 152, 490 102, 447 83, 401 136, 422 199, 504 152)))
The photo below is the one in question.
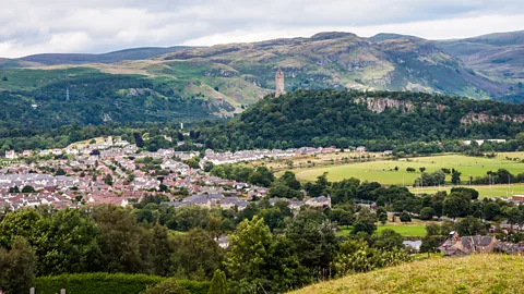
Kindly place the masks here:
MULTIPOLYGON (((486 175, 488 171, 507 169, 513 174, 524 172, 524 163, 507 160, 505 156, 522 158, 522 152, 504 154, 493 159, 466 157, 462 155, 443 155, 432 157, 419 157, 401 160, 369 161, 350 163, 331 168, 313 168, 296 170, 299 181, 314 181, 317 176, 327 172, 330 181, 341 181, 348 177, 357 177, 360 181, 379 182, 385 185, 412 186, 420 175, 419 168, 426 168, 426 172, 433 172, 441 168, 456 169, 462 172, 462 180, 465 183, 469 176, 486 175), (398 171, 395 171, 398 167, 398 171), (416 172, 407 172, 406 168, 414 168, 416 172)), ((446 181, 451 180, 446 175, 446 181)), ((503 193, 505 195, 505 193, 503 193)))

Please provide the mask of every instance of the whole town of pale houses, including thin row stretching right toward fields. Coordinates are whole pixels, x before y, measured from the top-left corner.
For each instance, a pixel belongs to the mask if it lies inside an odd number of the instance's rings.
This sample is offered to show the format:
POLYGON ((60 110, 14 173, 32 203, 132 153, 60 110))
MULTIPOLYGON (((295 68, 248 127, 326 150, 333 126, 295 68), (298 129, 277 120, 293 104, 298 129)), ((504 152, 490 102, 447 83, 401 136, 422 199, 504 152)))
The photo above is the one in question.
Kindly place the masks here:
MULTIPOLYGON (((337 151, 333 147, 236 152, 207 149, 198 166, 190 167, 184 161, 198 158, 199 152, 175 149, 138 152, 136 145, 111 136, 63 149, 20 154, 9 150, 5 152, 9 164, 0 169, 0 210, 41 205, 55 209, 102 204, 126 207, 151 195, 163 197, 174 207, 198 205, 241 210, 254 199, 265 197, 267 187, 211 176, 203 171, 206 162, 219 166, 337 151)), ((289 201, 295 211, 302 205, 331 207, 331 201, 323 196, 289 201)))

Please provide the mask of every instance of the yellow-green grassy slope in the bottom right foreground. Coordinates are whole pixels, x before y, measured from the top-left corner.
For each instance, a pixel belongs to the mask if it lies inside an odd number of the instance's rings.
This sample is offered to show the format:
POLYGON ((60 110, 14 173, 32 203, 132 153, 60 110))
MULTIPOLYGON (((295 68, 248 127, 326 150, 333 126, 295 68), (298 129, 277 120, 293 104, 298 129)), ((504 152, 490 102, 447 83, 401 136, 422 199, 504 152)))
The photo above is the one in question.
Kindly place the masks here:
POLYGON ((429 259, 319 283, 293 294, 522 293, 523 270, 520 256, 429 259))

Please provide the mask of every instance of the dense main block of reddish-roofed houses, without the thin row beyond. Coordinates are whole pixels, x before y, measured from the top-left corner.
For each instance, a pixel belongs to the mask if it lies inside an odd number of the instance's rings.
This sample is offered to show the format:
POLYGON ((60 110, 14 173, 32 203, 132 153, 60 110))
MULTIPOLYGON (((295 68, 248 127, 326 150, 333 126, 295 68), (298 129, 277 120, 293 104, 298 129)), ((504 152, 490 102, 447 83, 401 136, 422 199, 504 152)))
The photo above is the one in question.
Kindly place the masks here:
MULTIPOLYGON (((26 163, 11 163, 0 169, 0 209, 21 209, 50 205, 56 208, 80 205, 112 204, 128 206, 146 195, 162 194, 179 200, 170 192, 186 191, 189 195, 182 205, 195 201, 198 195, 227 195, 224 207, 242 209, 254 197, 265 197, 267 188, 204 174, 180 160, 196 156, 160 149, 129 156, 126 147, 109 147, 99 155, 78 155, 74 159, 48 159, 26 163), (160 162, 157 170, 148 170, 141 159, 153 158, 160 162), (63 175, 57 175, 57 171, 63 175), (110 176, 112 183, 105 181, 110 176), (169 192, 158 192, 160 185, 169 192), (29 186, 34 193, 22 193, 29 186)), ((215 205, 215 204, 214 204, 215 205)))

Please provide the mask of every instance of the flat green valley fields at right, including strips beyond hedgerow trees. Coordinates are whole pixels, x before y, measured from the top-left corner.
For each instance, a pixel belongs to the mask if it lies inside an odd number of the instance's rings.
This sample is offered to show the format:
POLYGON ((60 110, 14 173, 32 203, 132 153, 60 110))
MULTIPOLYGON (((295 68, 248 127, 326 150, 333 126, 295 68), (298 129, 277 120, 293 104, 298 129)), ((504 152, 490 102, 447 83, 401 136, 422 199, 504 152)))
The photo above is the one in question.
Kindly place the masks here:
MULTIPOLYGON (((376 160, 368 162, 348 163, 335 167, 319 167, 297 169, 294 172, 299 181, 315 181, 317 176, 327 172, 330 181, 342 181, 356 177, 360 181, 379 182, 384 185, 413 186, 420 176, 419 168, 426 168, 426 172, 433 172, 442 168, 456 169, 462 175, 462 183, 467 185, 469 176, 484 176, 488 171, 507 169, 512 174, 524 172, 524 163, 521 161, 523 152, 499 154, 496 158, 467 157, 463 155, 440 155, 431 157, 418 157, 400 160, 376 160), (509 159, 510 158, 510 159, 509 159), (395 170, 397 168, 397 170, 395 170), (416 172, 407 172, 407 168, 414 168, 416 172)), ((416 194, 434 193, 437 191, 450 191, 451 175, 446 175, 446 185, 441 187, 410 187, 416 194)), ((468 185, 467 185, 468 186, 468 185)), ((473 185, 480 193, 480 197, 511 197, 524 194, 523 184, 511 185, 473 185)))

